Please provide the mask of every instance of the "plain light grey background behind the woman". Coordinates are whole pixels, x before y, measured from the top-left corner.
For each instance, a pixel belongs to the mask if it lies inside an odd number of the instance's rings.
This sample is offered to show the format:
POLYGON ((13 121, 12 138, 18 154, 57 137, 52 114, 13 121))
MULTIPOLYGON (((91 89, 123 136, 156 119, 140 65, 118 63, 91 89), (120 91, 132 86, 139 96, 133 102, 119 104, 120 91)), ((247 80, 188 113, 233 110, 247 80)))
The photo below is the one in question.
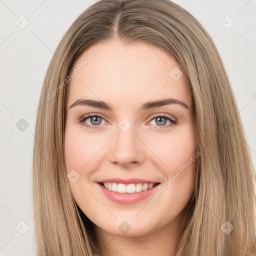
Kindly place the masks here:
MULTIPOLYGON (((39 94, 59 40, 93 2, 0 0, 0 255, 35 255, 31 167, 39 94), (25 24, 21 15, 29 21, 24 29, 15 23, 25 24), (16 126, 21 118, 28 123, 23 131, 16 126), (21 234, 26 227, 28 230, 21 234)), ((193 14, 213 37, 238 102, 255 166, 256 2, 175 2, 193 14), (228 29, 232 21, 226 15, 234 21, 228 29)))

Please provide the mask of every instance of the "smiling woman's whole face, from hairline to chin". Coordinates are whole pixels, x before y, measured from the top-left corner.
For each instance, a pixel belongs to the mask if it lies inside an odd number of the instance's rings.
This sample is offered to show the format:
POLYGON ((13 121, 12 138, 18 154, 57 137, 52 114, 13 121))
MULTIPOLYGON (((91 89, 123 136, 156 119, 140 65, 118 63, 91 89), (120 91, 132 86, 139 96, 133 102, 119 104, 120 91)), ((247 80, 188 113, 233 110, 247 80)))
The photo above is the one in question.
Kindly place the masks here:
POLYGON ((143 42, 95 44, 73 63, 64 143, 68 184, 101 231, 139 236, 182 221, 198 154, 180 69, 165 51, 143 42))

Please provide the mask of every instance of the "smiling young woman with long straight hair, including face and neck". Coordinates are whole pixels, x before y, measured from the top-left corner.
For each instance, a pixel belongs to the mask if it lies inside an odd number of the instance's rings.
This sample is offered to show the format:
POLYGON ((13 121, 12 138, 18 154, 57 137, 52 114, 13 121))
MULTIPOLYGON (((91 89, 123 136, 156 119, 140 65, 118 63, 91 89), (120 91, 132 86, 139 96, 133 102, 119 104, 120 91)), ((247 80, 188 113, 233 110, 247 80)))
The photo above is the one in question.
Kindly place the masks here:
POLYGON ((254 170, 209 34, 168 0, 101 0, 45 75, 37 255, 254 255, 254 170))

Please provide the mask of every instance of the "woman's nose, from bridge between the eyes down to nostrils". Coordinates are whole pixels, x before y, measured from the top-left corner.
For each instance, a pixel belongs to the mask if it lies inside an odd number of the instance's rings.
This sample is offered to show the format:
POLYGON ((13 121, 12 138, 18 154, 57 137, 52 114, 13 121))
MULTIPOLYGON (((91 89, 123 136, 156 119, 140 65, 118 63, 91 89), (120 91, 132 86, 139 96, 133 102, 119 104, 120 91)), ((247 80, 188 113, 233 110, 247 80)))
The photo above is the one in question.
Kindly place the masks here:
POLYGON ((116 127, 116 135, 112 143, 109 160, 126 165, 131 162, 141 163, 144 159, 143 143, 135 135, 136 129, 126 118, 123 118, 116 127))

